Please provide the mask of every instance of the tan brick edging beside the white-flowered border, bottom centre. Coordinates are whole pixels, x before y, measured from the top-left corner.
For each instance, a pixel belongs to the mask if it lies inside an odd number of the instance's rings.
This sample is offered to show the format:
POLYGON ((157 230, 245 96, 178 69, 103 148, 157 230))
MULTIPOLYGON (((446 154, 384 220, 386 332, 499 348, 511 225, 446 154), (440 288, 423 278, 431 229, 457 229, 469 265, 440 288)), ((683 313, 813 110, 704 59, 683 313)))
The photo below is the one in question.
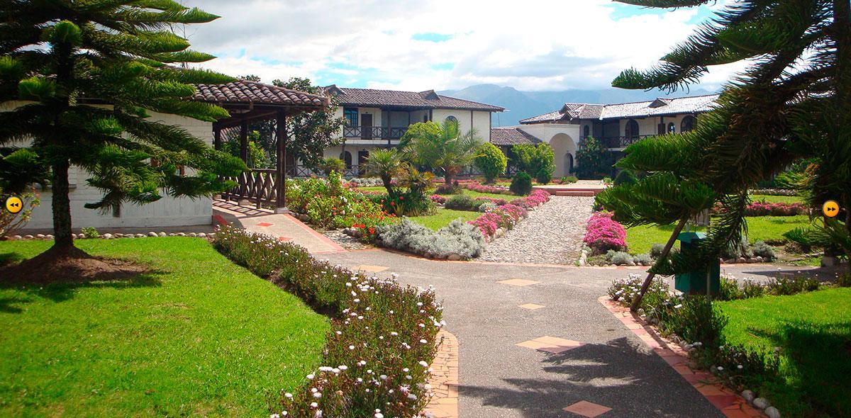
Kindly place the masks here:
POLYGON ((422 412, 431 418, 458 418, 458 338, 440 330, 437 341, 429 379, 433 396, 422 412))

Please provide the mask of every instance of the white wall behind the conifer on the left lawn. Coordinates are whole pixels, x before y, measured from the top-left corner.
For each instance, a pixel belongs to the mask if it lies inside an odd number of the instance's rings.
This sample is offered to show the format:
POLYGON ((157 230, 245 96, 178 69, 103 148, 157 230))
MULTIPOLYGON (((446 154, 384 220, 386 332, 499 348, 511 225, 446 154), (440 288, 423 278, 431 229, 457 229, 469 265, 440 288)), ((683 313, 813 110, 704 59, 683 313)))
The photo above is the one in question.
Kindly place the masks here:
MULTIPOLYGON (((18 105, 20 105, 20 102, 0 104, 0 111, 11 110, 18 105)), ((152 113, 151 120, 161 121, 169 125, 178 125, 196 137, 202 138, 207 144, 213 144, 213 126, 210 122, 159 113, 152 113)), ((159 201, 143 206, 125 203, 122 206, 119 217, 113 217, 111 212, 101 215, 99 211, 83 207, 86 203, 99 201, 100 196, 102 196, 100 190, 89 187, 86 184, 89 174, 79 167, 71 167, 68 174, 71 184, 71 193, 69 195, 71 199, 71 223, 75 230, 83 227, 156 228, 191 226, 206 225, 212 222, 213 202, 208 197, 191 200, 188 198, 177 199, 163 195, 163 198, 159 201)), ((39 197, 41 205, 32 211, 32 218, 27 223, 26 228, 52 229, 51 193, 49 190, 44 190, 40 193, 39 197)))

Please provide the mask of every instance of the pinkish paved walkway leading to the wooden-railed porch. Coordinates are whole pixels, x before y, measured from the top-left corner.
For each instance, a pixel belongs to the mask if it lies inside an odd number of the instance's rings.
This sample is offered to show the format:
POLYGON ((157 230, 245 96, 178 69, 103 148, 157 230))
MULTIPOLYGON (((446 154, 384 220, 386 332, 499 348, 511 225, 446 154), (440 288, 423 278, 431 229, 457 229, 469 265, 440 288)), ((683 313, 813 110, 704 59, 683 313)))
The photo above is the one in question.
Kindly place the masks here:
POLYGON ((218 223, 230 223, 251 232, 272 235, 278 240, 292 241, 313 254, 345 251, 334 241, 319 234, 292 215, 238 206, 226 201, 213 201, 213 218, 218 223))

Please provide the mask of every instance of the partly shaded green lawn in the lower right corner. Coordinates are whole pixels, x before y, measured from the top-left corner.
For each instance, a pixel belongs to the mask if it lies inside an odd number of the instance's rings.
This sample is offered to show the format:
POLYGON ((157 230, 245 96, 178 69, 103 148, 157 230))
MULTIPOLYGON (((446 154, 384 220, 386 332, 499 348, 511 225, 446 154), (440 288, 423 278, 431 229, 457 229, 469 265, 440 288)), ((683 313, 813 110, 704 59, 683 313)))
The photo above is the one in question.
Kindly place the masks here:
POLYGON ((781 348, 781 381, 753 389, 783 415, 851 416, 851 288, 718 305, 728 342, 781 348))

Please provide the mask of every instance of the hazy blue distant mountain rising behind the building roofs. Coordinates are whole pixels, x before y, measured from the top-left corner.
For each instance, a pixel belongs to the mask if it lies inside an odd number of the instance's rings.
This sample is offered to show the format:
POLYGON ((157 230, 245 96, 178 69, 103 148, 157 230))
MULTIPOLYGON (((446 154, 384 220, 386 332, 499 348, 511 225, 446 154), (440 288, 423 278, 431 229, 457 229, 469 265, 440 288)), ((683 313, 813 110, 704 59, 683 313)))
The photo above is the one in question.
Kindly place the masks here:
MULTIPOLYGON (((477 84, 460 90, 444 90, 437 92, 458 99, 472 100, 504 107, 508 111, 494 113, 494 127, 510 127, 517 125, 521 119, 543 115, 553 110, 559 110, 565 102, 613 104, 639 102, 665 97, 667 94, 658 90, 645 92, 643 90, 623 90, 620 88, 602 88, 598 90, 563 90, 555 92, 523 92, 516 88, 498 86, 496 84, 477 84)), ((711 94, 703 88, 696 88, 688 93, 677 92, 674 97, 699 96, 711 94)))

